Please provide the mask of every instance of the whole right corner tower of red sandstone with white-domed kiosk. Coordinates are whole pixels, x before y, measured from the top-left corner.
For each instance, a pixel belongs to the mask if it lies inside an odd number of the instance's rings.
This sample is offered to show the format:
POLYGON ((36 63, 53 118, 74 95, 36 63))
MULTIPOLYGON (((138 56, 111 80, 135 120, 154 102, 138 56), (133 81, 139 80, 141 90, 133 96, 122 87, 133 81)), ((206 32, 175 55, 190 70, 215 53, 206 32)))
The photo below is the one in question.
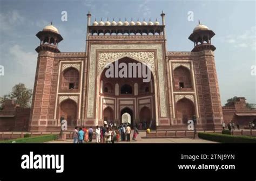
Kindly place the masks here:
POLYGON ((215 33, 199 24, 188 39, 193 41, 196 57, 193 60, 198 95, 199 121, 204 129, 220 129, 223 112, 211 39, 215 33))

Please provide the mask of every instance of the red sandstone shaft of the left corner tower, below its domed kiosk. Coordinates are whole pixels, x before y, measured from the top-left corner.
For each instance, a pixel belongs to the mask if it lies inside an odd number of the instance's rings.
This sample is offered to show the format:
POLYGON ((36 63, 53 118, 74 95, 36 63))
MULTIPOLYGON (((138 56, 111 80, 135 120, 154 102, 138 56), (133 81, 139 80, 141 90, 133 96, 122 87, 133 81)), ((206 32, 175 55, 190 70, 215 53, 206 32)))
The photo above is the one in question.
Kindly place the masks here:
POLYGON ((57 89, 58 62, 54 61, 54 53, 40 52, 35 78, 34 94, 31 107, 30 126, 56 124, 53 119, 57 89))

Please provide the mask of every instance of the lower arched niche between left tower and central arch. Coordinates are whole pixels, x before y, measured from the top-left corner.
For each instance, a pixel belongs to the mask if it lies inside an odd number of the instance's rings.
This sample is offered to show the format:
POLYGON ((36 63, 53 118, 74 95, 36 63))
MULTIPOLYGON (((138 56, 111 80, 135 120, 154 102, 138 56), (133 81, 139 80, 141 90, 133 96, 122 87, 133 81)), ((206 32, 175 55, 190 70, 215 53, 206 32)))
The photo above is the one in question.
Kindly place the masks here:
POLYGON ((68 122, 68 126, 76 126, 77 124, 77 104, 71 99, 67 99, 60 103, 59 117, 64 117, 68 122))

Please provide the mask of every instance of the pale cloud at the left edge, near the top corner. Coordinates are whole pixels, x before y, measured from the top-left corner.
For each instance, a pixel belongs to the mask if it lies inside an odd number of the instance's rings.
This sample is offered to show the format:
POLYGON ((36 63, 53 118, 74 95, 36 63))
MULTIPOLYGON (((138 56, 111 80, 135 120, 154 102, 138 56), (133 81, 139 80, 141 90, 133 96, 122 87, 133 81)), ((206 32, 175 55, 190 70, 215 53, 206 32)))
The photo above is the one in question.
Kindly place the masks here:
POLYGON ((9 33, 15 30, 15 26, 21 25, 24 21, 25 18, 17 10, 0 13, 0 32, 9 33))

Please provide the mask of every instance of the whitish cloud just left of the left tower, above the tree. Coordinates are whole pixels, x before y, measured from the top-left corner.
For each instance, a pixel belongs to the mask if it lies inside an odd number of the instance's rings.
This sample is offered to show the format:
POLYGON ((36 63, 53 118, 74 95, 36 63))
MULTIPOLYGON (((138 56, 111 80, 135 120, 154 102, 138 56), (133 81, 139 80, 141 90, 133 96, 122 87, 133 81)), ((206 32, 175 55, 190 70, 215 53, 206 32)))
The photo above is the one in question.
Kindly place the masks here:
POLYGON ((14 45, 9 48, 10 59, 22 66, 25 71, 35 72, 37 53, 25 52, 19 45, 14 45))

